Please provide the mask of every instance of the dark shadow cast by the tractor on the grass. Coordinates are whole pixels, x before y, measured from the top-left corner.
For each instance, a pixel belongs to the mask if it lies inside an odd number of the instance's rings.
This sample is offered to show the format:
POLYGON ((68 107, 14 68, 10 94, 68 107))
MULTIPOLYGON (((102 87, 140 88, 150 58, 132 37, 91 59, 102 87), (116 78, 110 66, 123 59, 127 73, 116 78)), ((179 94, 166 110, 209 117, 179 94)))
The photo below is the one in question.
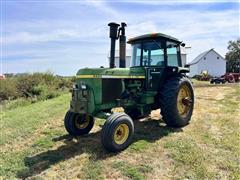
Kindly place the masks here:
MULTIPOLYGON (((135 133, 133 143, 139 140, 155 142, 170 133, 181 132, 180 128, 170 128, 162 120, 145 119, 135 120, 135 133)), ((105 151, 101 144, 101 131, 93 132, 82 137, 72 137, 63 135, 52 139, 55 143, 62 145, 57 149, 51 149, 39 154, 26 157, 24 164, 25 170, 18 172, 18 178, 27 178, 38 175, 49 169, 52 165, 68 160, 83 153, 90 155, 90 160, 98 161, 115 156, 118 153, 109 153, 105 151)), ((131 145, 130 145, 131 146, 131 145)))

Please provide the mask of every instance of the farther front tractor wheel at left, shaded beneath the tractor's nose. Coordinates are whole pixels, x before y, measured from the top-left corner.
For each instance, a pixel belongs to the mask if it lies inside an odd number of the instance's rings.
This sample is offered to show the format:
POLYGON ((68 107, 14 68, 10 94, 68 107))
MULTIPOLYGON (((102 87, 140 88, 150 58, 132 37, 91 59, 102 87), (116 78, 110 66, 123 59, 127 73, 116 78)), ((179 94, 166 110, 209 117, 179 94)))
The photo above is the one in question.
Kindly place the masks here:
POLYGON ((88 114, 78 114, 71 111, 66 113, 64 126, 73 136, 88 134, 94 125, 94 118, 88 114))

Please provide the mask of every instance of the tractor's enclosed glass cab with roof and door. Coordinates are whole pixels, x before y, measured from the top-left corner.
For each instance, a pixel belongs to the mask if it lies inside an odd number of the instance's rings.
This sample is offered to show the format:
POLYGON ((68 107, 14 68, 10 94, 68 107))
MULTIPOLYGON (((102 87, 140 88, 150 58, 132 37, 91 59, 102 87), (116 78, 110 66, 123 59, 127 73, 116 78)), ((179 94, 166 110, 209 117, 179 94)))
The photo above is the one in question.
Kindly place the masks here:
POLYGON ((185 44, 174 37, 145 34, 129 39, 128 43, 132 45, 131 68, 145 69, 147 90, 158 90, 165 77, 175 75, 179 68, 183 70, 180 46, 185 44))

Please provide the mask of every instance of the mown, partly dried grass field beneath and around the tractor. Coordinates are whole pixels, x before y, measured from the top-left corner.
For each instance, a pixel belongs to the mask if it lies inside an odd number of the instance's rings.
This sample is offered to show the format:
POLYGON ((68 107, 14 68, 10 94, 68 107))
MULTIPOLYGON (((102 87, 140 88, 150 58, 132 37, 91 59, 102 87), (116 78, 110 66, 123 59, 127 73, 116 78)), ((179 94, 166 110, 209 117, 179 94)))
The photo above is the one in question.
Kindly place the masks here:
POLYGON ((169 128, 153 111, 118 154, 101 146, 103 120, 89 135, 67 135, 69 94, 2 110, 0 179, 240 179, 239 84, 196 87, 195 97, 188 126, 169 128))

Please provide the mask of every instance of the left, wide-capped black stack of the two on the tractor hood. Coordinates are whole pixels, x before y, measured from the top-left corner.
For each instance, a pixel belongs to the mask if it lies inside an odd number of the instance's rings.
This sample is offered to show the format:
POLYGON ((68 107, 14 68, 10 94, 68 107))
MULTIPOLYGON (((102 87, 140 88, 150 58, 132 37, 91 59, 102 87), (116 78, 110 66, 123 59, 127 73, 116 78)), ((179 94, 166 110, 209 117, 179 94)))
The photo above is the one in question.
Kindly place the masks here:
POLYGON ((118 39, 118 26, 120 26, 117 23, 111 22, 108 24, 110 27, 109 31, 109 37, 111 38, 111 47, 110 47, 110 63, 109 67, 114 68, 115 67, 115 43, 116 40, 118 39))

